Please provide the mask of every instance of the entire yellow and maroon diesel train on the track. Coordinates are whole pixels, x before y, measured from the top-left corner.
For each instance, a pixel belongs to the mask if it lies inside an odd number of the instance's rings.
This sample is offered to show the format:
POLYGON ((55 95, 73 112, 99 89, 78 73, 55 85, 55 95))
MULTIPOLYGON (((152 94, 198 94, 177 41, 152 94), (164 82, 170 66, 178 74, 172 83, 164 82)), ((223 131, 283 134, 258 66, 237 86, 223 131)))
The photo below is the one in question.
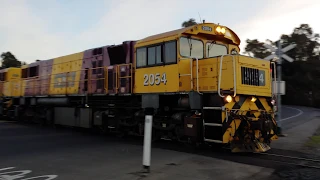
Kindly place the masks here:
POLYGON ((265 152, 278 138, 270 68, 240 55, 238 35, 203 22, 0 70, 0 115, 265 152))

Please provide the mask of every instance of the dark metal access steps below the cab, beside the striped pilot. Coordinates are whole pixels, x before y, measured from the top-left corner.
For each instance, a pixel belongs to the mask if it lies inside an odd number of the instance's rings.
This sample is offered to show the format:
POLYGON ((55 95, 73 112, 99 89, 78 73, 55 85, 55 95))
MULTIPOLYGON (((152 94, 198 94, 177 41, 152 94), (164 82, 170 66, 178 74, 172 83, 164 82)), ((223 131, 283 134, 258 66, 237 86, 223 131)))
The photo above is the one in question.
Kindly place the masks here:
MULTIPOLYGON (((210 96, 210 95, 209 95, 210 96)), ((203 97, 202 122, 203 138, 205 142, 222 143, 222 106, 216 102, 215 97, 203 97)))

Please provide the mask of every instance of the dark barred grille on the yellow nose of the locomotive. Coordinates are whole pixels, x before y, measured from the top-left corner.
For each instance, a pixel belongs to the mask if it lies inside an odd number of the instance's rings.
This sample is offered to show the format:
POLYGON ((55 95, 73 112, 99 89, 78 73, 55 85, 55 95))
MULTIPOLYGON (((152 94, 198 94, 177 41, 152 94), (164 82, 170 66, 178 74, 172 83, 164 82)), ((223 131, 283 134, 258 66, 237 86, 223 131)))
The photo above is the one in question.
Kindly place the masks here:
POLYGON ((265 71, 241 67, 241 81, 242 84, 251 86, 264 86, 265 85, 265 71))

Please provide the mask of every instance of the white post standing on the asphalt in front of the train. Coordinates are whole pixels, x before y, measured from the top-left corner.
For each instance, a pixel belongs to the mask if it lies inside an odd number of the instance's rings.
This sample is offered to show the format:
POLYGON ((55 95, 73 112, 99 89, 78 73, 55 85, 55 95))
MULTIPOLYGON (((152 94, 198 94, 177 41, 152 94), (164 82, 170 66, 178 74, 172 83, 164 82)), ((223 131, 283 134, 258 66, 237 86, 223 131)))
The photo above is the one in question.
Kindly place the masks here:
POLYGON ((150 172, 153 111, 146 110, 144 122, 143 168, 150 172))

